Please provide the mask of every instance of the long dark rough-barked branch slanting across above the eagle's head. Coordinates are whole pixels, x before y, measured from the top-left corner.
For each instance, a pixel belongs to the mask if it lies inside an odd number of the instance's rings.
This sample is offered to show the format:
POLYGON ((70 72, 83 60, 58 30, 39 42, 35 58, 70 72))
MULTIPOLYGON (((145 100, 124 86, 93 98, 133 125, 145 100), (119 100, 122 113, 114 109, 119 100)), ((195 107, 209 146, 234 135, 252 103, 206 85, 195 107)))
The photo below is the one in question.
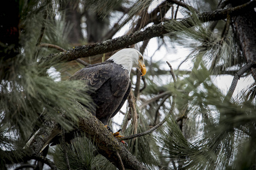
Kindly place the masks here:
MULTIPOLYGON (((198 14, 197 17, 201 22, 221 20, 221 19, 225 19, 227 17, 227 14, 229 14, 230 16, 237 16, 237 15, 240 15, 242 12, 248 10, 249 8, 254 8, 255 6, 256 6, 256 1, 250 1, 241 6, 232 7, 225 10, 203 12, 201 14, 198 14)), ((129 45, 133 45, 137 42, 151 39, 152 37, 159 37, 167 33, 179 31, 177 28, 175 28, 175 24, 183 24, 183 25, 186 25, 187 27, 193 27, 195 23, 193 23, 192 20, 193 20, 192 17, 181 19, 179 20, 179 22, 176 22, 175 20, 171 20, 171 21, 160 23, 157 25, 152 25, 151 27, 146 28, 144 31, 130 33, 129 35, 117 37, 112 40, 106 40, 103 42, 98 42, 98 43, 89 44, 89 45, 75 46, 74 48, 67 50, 67 52, 50 54, 48 57, 42 57, 39 63, 68 62, 68 61, 75 60, 77 58, 108 53, 113 50, 125 48, 126 46, 129 46, 129 45)))

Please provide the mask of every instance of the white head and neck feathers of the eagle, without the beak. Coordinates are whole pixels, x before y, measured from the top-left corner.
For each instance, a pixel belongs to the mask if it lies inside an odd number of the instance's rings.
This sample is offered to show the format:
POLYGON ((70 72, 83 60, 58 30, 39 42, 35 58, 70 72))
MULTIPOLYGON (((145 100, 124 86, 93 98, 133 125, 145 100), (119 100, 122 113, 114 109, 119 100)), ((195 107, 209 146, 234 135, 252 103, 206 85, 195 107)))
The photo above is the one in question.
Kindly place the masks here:
POLYGON ((108 60, 112 60, 114 63, 122 65, 122 68, 128 70, 130 74, 131 68, 138 66, 138 58, 140 55, 142 56, 138 50, 127 48, 118 51, 108 60))

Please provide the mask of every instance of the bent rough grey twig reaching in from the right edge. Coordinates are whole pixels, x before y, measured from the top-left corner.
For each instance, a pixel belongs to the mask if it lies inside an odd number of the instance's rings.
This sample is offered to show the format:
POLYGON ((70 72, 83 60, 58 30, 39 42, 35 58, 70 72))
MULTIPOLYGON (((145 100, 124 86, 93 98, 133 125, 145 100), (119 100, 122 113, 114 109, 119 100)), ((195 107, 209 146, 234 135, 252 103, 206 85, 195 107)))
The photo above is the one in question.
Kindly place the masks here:
POLYGON ((226 95, 224 100, 230 100, 230 98, 232 97, 234 90, 236 89, 237 86, 237 82, 238 80, 241 78, 241 76, 248 71, 251 67, 255 66, 256 62, 249 62, 246 65, 242 66, 242 68, 237 71, 237 73, 234 75, 233 81, 231 83, 231 86, 229 88, 228 94, 226 95))

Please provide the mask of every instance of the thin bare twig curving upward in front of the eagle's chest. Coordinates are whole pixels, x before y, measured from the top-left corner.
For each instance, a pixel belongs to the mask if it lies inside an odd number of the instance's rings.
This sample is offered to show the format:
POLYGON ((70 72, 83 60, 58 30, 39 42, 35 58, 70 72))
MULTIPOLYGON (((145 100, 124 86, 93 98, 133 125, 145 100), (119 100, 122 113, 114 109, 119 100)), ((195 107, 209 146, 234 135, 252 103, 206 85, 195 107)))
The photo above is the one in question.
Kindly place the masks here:
MULTIPOLYGON (((168 63, 168 62, 167 62, 168 63)), ((168 63, 169 66, 170 63, 168 63)), ((176 83, 176 78, 175 78, 175 75, 173 73, 173 70, 172 68, 170 67, 170 71, 172 72, 171 75, 172 75, 172 78, 174 79, 174 82, 176 83)), ((171 104, 171 109, 170 109, 170 112, 166 115, 166 117, 164 117, 164 119, 158 124, 158 125, 155 125, 153 128, 151 128, 150 130, 147 130, 147 131, 144 131, 142 133, 138 133, 138 134, 134 134, 134 135, 130 135, 129 137, 122 137, 122 138, 118 138, 119 141, 125 141, 125 140, 129 140, 129 139, 133 139, 133 138, 137 138, 137 137, 142 137, 144 135, 147 135, 147 134, 150 134, 152 133, 152 131, 158 129, 160 126, 162 126, 167 118, 174 112, 174 107, 175 107, 175 100, 176 100, 176 95, 172 95, 172 104, 171 104)))

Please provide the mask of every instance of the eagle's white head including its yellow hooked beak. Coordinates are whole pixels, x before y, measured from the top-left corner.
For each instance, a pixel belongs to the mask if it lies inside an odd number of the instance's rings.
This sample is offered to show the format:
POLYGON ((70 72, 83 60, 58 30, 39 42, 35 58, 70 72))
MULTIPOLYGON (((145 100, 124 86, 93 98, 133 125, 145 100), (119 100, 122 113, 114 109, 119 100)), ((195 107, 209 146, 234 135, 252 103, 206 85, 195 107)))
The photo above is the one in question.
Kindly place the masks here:
POLYGON ((142 75, 145 75, 147 72, 142 54, 133 48, 119 50, 108 60, 113 60, 118 65, 122 65, 123 69, 127 69, 129 71, 129 74, 131 73, 132 67, 137 67, 141 71, 142 75))

